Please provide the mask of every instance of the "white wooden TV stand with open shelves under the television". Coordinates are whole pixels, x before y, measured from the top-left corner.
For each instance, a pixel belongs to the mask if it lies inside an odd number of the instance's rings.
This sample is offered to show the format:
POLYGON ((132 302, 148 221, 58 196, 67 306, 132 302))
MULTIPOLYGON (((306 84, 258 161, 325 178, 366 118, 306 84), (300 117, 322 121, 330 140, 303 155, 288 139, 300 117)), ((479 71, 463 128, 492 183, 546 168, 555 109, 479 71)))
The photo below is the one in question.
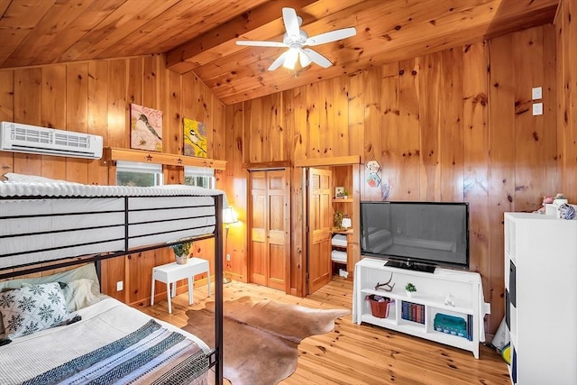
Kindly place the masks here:
POLYGON ((386 327, 398 332, 416 335, 441 344, 447 344, 471 351, 479 358, 479 343, 485 340, 483 317, 490 313, 489 304, 483 300, 481 275, 472 271, 436 268, 434 273, 399 269, 386 266, 385 260, 363 258, 354 267, 353 283, 353 322, 361 325, 366 322, 386 327), (392 291, 375 289, 378 282, 387 282, 392 274, 392 291), (405 285, 411 282, 417 292, 409 298, 405 285), (371 314, 371 304, 365 300, 367 295, 376 294, 394 299, 389 305, 389 316, 378 318, 371 314), (445 305, 445 299, 451 295, 453 305, 445 305), (403 302, 422 305, 425 309, 424 323, 403 319, 403 302), (434 328, 435 315, 459 316, 465 321, 472 320, 471 341, 463 336, 445 334, 434 328))

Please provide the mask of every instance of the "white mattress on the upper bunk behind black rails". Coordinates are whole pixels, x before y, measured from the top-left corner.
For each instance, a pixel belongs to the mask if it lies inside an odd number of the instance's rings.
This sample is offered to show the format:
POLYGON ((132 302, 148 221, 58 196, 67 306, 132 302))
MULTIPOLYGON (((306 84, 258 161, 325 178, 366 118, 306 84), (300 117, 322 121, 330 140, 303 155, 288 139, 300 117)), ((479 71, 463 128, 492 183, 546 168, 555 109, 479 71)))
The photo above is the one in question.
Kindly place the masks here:
POLYGON ((221 190, 182 185, 137 188, 2 182, 0 269, 125 251, 125 205, 129 250, 213 234, 217 195, 223 195, 223 206, 228 206, 221 190))

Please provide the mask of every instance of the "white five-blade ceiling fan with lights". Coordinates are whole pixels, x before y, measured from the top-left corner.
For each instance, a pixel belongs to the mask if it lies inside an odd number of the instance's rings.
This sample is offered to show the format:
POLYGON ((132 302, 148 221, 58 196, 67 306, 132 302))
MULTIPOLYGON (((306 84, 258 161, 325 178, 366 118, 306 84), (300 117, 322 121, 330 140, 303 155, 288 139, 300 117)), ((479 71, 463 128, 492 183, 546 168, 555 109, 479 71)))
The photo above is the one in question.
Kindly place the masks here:
POLYGON ((350 27, 308 37, 307 32, 300 29, 300 24, 303 22, 303 19, 297 16, 297 12, 293 8, 288 7, 282 8, 282 20, 285 24, 285 29, 287 30, 282 42, 236 41, 236 44, 238 45, 248 45, 253 47, 289 48, 289 50, 283 52, 277 60, 272 62, 269 67, 270 71, 278 69, 281 65, 287 69, 294 69, 297 60, 300 61, 300 67, 302 68, 307 67, 311 62, 313 62, 326 69, 333 65, 331 60, 326 59, 323 55, 316 52, 316 50, 304 47, 314 47, 326 42, 346 39, 357 34, 357 30, 354 27, 350 27))

